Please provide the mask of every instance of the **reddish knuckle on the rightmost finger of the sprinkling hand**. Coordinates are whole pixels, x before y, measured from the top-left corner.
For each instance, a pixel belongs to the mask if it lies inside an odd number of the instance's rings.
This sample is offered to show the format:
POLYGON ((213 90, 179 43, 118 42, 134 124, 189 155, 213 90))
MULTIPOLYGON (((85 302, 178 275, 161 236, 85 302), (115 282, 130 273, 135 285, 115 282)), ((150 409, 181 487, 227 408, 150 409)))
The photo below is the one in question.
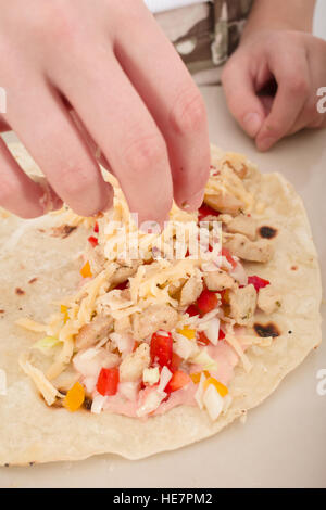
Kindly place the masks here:
POLYGON ((178 97, 172 109, 170 124, 181 136, 199 131, 206 124, 206 111, 203 99, 196 87, 189 88, 178 97))

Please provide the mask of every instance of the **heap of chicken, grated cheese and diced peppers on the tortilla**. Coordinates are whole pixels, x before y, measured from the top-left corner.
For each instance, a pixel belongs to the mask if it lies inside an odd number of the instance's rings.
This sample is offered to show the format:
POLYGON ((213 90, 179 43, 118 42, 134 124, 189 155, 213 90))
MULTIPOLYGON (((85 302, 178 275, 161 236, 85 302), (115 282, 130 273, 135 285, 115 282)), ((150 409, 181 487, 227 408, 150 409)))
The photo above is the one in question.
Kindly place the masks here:
MULTIPOLYGON (((283 306, 262 276, 277 230, 256 219, 264 204, 246 186, 252 164, 212 154, 204 203, 193 214, 174 205, 163 232, 138 230, 110 177, 114 207, 87 219, 76 294, 45 324, 18 320, 45 332, 20 365, 48 406, 143 419, 187 405, 215 421, 233 400, 235 367, 250 372, 247 352, 275 341, 254 318, 266 323, 283 306)), ((72 228, 84 221, 66 215, 72 228)))

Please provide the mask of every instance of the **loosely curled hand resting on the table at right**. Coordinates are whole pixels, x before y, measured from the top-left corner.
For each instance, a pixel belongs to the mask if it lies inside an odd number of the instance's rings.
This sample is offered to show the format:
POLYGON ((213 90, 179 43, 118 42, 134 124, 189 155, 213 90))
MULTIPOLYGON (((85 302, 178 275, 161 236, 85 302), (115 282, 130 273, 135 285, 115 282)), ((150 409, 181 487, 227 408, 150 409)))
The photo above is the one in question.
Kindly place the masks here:
POLYGON ((326 126, 317 89, 326 87, 326 41, 294 30, 255 31, 226 64, 228 107, 261 151, 302 128, 326 126), (275 79, 275 97, 259 92, 275 79))

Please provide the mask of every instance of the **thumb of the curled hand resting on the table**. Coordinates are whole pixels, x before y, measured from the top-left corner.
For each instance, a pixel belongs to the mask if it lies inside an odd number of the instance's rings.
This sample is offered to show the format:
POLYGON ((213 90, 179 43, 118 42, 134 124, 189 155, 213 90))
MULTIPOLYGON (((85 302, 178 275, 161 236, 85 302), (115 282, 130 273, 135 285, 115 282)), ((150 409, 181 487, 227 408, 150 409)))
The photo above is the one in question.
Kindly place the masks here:
POLYGON ((266 115, 246 61, 231 59, 222 73, 222 85, 230 113, 247 135, 255 138, 266 115))

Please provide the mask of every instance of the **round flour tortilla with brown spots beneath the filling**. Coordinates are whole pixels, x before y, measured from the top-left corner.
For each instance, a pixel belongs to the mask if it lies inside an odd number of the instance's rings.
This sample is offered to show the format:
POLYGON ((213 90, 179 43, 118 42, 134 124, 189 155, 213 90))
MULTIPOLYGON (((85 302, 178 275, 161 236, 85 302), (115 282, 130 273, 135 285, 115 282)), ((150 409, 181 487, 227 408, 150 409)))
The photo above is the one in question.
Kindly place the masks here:
MULTIPOLYGON (((12 150, 25 161, 20 146, 12 150)), ((30 161, 27 167, 33 170, 30 161)), ((0 464, 78 460, 104 452, 139 459, 203 439, 258 406, 319 344, 319 268, 301 199, 278 174, 252 170, 246 180, 266 204, 256 216, 260 225, 278 230, 273 260, 246 266, 280 291, 279 311, 262 314, 258 321, 275 322, 281 334, 271 347, 248 350, 253 369, 246 373, 236 368, 229 386, 233 404, 215 423, 206 412, 187 406, 145 421, 47 407, 17 362, 38 335, 15 326, 15 320, 29 316, 43 321, 53 311, 51 302, 75 292, 80 279, 77 254, 87 232, 79 227, 66 239, 53 238, 51 227, 62 224, 58 215, 32 221, 0 219, 0 368, 8 377, 8 395, 0 396, 0 464), (33 278, 37 281, 28 283, 33 278), (17 288, 25 294, 17 295, 17 288)))

